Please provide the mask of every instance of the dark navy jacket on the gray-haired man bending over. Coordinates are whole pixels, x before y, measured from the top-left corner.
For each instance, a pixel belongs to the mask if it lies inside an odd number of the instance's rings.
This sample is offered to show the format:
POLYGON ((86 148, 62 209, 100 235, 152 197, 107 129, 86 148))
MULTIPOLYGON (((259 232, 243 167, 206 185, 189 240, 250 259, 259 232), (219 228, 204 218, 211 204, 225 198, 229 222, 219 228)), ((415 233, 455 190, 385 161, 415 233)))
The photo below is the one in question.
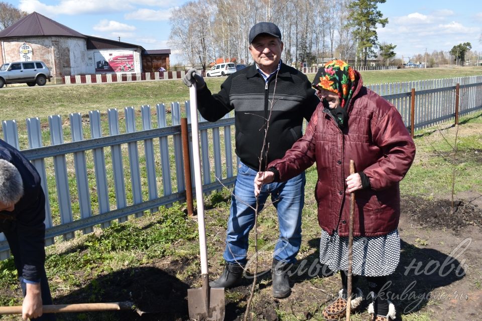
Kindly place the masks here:
POLYGON ((0 139, 0 158, 15 165, 22 176, 24 196, 13 212, 0 212, 4 232, 19 276, 38 282, 45 263, 45 196, 35 167, 16 148, 0 139))

